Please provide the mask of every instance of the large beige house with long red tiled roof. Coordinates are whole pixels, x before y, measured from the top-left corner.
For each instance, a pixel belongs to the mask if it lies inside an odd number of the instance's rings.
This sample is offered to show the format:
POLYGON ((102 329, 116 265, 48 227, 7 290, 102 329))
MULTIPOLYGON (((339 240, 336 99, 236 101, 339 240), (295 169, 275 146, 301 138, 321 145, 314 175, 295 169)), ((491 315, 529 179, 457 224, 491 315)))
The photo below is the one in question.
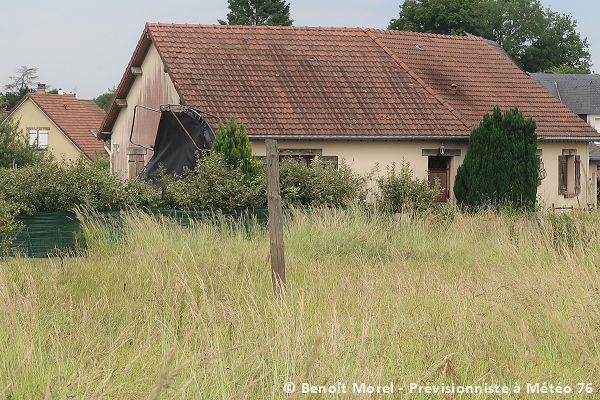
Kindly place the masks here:
POLYGON ((479 37, 147 24, 100 129, 112 141, 114 173, 131 176, 151 157, 129 139, 154 143, 158 113, 135 106, 160 104, 195 107, 220 122, 236 116, 257 156, 273 138, 282 155, 345 159, 358 173, 405 159, 415 175, 439 178, 451 200, 471 130, 495 105, 518 106, 543 138, 544 203, 596 199, 580 176, 588 142, 600 134, 479 37))

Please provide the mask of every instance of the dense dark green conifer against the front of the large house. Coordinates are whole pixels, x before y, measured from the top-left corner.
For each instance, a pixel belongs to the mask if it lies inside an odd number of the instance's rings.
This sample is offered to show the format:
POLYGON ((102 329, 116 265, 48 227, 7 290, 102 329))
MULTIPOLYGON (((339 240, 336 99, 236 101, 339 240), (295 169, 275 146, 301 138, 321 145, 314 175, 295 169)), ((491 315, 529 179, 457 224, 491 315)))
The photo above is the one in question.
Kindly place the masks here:
POLYGON ((483 206, 531 210, 537 194, 537 135, 533 119, 515 107, 502 115, 496 106, 473 129, 458 168, 454 195, 468 209, 483 206))

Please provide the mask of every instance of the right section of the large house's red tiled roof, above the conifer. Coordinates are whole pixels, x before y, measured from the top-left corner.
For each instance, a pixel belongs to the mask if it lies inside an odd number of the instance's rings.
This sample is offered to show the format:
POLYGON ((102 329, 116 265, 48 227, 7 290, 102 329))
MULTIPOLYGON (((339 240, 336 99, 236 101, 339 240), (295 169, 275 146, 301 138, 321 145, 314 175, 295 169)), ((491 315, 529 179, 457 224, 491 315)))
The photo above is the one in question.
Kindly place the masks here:
POLYGON ((545 137, 595 136, 597 133, 554 96, 479 37, 369 30, 390 52, 401 54, 411 70, 454 109, 471 127, 495 105, 517 106, 535 119, 545 137), (422 44, 424 50, 415 46, 422 44), (456 84, 456 90, 451 85, 456 84), (583 122, 583 123, 582 123, 583 122))

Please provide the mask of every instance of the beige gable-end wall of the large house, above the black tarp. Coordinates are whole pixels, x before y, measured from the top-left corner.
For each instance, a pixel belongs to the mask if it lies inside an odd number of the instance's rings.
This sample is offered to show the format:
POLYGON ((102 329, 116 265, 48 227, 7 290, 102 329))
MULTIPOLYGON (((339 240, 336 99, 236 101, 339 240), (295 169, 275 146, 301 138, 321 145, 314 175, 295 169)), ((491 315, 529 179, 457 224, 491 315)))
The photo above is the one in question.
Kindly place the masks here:
MULTIPOLYGON (((161 104, 179 104, 179 95, 169 75, 164 72, 154 44, 150 45, 141 67, 142 75, 136 76, 131 85, 127 94, 127 107, 119 113, 112 130, 113 172, 121 177, 127 176, 127 147, 136 147, 129 142, 135 106, 158 109, 161 104)), ((138 107, 133 141, 147 147, 154 145, 159 120, 160 113, 138 107)), ((152 153, 151 150, 148 151, 146 162, 150 160, 152 153)))

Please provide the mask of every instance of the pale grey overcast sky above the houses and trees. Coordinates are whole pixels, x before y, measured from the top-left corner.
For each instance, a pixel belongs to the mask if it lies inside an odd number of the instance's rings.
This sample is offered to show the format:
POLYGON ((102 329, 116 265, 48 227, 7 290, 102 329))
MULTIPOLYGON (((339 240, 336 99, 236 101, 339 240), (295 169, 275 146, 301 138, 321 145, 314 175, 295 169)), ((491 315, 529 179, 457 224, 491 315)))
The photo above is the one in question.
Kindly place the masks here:
MULTIPOLYGON (((289 0, 295 26, 386 28, 403 0, 289 0)), ((577 20, 600 72, 599 0, 541 0, 577 20)), ((216 24, 227 0, 17 0, 0 13, 0 92, 21 66, 91 99, 117 86, 146 22, 216 24)))

